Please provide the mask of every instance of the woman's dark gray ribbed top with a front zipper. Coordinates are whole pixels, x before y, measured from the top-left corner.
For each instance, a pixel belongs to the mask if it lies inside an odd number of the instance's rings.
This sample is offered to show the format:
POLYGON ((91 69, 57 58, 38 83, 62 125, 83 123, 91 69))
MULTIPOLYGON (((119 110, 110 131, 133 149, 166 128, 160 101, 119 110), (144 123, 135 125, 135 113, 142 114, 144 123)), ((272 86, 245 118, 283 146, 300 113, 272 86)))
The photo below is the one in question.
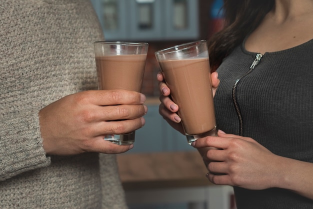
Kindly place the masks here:
MULTIPOLYGON (((250 70, 255 56, 238 46, 218 68, 218 128, 252 137, 275 154, 313 163, 313 40, 265 53, 250 70)), ((238 209, 313 208, 313 200, 285 189, 234 191, 238 209)))

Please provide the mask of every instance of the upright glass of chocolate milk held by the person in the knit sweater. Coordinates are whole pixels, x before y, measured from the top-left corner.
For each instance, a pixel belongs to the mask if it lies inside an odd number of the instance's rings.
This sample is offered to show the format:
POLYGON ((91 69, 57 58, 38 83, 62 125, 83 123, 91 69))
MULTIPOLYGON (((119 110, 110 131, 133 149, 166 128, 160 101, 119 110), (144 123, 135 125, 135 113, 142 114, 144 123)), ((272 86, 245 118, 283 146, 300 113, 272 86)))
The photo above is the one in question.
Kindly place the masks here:
MULTIPOLYGON (((98 89, 126 89, 140 92, 147 50, 146 42, 94 42, 98 89)), ((135 131, 106 134, 104 139, 119 145, 132 144, 135 131)))

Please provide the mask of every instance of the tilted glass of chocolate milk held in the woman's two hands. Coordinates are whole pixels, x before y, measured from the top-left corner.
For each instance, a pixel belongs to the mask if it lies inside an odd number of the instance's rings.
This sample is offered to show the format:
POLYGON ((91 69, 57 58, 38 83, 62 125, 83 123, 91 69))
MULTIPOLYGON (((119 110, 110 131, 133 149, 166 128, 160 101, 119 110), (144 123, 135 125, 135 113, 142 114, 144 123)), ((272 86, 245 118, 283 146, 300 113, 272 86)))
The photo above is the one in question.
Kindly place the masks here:
POLYGON ((175 45, 155 52, 177 114, 191 144, 216 135, 213 94, 205 40, 175 45))

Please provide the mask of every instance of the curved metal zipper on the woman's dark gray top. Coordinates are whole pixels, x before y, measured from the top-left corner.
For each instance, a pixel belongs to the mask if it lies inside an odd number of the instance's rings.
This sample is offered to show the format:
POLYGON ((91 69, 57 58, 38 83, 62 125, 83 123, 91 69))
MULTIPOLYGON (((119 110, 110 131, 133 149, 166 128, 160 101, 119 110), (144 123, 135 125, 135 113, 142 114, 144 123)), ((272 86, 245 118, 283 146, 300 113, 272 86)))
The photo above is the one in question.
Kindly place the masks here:
POLYGON ((242 121, 242 115, 240 112, 240 108, 237 102, 237 98, 236 98, 236 90, 237 90, 237 85, 239 83, 239 81, 242 79, 242 77, 248 75, 249 73, 252 72, 252 70, 254 69, 254 67, 258 64, 258 62, 261 60, 263 54, 261 53, 257 53, 255 56, 255 59, 253 60, 250 69, 245 72, 243 75, 241 75, 238 79, 236 79, 236 81, 234 82, 233 86, 232 86, 232 101, 233 101, 233 105, 235 107, 238 119, 239 119, 239 135, 243 135, 243 121, 242 121))

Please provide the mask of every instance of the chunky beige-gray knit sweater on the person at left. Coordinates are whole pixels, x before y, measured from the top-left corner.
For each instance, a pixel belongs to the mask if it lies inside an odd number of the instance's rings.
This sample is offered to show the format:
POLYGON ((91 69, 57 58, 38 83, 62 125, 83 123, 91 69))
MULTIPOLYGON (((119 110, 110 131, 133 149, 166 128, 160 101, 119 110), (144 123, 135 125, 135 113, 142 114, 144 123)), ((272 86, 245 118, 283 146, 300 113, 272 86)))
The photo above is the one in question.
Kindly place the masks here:
POLYGON ((96 89, 102 39, 88 0, 1 0, 0 208, 126 208, 115 155, 46 156, 39 132, 42 107, 96 89))

